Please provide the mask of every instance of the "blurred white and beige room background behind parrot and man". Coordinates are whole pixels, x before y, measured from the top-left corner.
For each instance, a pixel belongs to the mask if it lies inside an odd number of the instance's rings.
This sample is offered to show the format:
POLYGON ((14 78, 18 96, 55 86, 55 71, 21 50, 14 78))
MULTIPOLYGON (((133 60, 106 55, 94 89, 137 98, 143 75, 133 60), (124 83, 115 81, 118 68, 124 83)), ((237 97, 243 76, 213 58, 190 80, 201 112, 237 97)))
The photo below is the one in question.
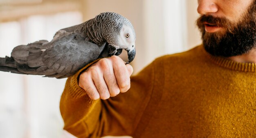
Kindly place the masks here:
MULTIPOLYGON (((201 43, 196 8, 197 0, 0 0, 0 57, 112 11, 135 28, 137 73, 156 57, 201 43)), ((59 111, 65 81, 0 72, 0 138, 74 138, 59 111)))

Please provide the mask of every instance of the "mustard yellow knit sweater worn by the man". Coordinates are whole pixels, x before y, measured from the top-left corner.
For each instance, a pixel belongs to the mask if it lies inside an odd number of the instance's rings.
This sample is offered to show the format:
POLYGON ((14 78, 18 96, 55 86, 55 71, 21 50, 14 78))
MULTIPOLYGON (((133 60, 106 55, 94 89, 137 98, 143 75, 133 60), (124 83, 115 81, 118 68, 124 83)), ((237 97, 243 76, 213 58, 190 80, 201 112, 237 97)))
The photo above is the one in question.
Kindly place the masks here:
POLYGON ((108 100, 91 100, 78 86, 82 70, 67 79, 60 103, 64 129, 79 138, 256 137, 256 64, 198 46, 157 58, 108 100))

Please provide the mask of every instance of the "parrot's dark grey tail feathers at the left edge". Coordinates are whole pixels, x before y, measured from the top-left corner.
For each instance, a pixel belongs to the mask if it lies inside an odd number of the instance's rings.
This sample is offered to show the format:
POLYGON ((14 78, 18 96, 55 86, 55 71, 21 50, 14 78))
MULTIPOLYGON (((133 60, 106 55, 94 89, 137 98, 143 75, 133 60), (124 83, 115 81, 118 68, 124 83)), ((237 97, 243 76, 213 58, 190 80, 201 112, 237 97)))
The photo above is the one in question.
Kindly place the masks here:
POLYGON ((24 74, 17 69, 17 62, 11 57, 0 58, 0 71, 24 74))

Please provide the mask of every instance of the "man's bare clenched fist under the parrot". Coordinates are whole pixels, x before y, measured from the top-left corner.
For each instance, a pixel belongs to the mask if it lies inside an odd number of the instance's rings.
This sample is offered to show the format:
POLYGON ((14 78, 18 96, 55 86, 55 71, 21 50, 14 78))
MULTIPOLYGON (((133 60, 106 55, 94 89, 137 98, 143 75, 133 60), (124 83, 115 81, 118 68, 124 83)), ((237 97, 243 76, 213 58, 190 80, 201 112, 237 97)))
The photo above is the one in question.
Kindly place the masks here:
POLYGON ((118 56, 111 56, 99 60, 83 71, 78 84, 92 100, 105 100, 130 89, 132 72, 131 65, 125 65, 118 56))

